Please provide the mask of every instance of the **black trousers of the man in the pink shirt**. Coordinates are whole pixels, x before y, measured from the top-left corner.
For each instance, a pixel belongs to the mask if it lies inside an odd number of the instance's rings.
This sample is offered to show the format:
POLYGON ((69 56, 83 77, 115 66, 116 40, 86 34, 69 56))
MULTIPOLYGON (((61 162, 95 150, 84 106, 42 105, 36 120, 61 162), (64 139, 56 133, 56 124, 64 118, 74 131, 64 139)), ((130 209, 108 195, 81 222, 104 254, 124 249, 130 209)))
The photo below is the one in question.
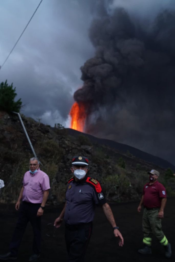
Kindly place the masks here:
POLYGON ((19 245, 23 238, 25 228, 30 221, 34 239, 33 239, 33 253, 40 254, 40 245, 41 245, 41 217, 37 217, 37 211, 40 208, 41 204, 33 204, 23 201, 20 204, 19 217, 15 231, 13 233, 12 241, 10 242, 10 252, 13 255, 17 255, 19 245))

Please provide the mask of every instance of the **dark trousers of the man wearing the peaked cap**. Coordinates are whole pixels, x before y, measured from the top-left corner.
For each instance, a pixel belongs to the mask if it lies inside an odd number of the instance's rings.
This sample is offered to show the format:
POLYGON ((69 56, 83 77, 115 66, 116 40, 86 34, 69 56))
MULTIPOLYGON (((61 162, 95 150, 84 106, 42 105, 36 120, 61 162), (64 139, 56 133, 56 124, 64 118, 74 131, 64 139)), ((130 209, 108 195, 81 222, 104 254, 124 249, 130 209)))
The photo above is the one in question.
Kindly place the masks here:
POLYGON ((68 262, 84 262, 85 252, 92 234, 92 222, 65 225, 68 262))

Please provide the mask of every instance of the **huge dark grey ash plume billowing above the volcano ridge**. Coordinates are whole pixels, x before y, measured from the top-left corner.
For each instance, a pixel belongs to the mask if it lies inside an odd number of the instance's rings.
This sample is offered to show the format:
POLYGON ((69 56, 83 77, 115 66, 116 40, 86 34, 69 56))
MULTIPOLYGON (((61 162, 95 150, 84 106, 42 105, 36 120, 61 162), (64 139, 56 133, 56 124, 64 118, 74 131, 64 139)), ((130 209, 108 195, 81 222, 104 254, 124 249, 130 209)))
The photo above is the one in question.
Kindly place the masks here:
POLYGON ((89 30, 96 53, 74 93, 87 107, 85 132, 175 164, 175 12, 162 10, 146 28, 121 7, 100 10, 89 30))

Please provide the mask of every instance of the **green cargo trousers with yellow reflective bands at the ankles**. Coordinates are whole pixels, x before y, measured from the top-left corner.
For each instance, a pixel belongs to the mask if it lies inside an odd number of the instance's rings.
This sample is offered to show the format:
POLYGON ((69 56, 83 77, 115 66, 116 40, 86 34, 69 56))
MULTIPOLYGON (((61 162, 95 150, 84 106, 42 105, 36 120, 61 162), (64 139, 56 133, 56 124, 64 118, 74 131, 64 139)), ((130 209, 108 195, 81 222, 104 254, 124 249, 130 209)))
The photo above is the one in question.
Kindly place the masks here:
POLYGON ((159 208, 153 208, 143 211, 143 243, 151 246, 152 234, 158 239, 162 245, 167 245, 168 240, 162 231, 161 219, 158 217, 159 208))

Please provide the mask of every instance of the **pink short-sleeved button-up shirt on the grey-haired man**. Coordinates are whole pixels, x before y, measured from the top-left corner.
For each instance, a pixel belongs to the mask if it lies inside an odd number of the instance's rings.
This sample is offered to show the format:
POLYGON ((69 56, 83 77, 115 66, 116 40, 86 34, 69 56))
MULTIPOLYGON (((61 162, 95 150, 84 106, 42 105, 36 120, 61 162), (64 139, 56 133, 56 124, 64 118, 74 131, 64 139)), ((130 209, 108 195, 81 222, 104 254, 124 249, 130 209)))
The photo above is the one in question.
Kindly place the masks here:
POLYGON ((50 189, 49 177, 40 169, 35 174, 27 171, 24 174, 23 187, 23 201, 34 204, 42 203, 44 191, 50 189))

